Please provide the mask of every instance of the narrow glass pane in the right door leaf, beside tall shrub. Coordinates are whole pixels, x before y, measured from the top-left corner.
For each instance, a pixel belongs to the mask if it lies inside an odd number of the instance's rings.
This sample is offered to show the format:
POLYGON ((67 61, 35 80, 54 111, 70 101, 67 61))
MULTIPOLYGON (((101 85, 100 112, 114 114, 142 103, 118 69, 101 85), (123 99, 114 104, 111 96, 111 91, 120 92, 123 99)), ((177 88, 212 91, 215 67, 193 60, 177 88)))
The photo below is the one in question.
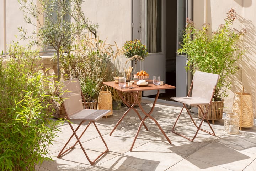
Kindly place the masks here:
POLYGON ((185 27, 186 27, 186 0, 178 0, 178 48, 181 48, 180 42, 182 42, 185 27))

